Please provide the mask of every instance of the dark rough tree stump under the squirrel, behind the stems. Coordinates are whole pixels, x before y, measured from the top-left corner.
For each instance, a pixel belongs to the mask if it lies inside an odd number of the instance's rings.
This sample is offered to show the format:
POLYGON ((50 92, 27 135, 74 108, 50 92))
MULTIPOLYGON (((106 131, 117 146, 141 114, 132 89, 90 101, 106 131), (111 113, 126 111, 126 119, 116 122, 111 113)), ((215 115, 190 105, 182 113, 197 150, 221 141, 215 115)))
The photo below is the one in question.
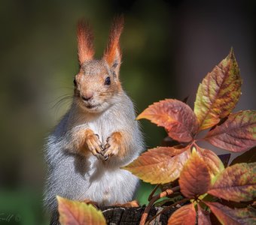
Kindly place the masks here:
MULTIPOLYGON (((148 214, 148 219, 154 217, 155 214, 162 211, 164 207, 152 207, 148 214)), ((145 210, 145 205, 141 207, 134 208, 123 208, 123 207, 102 207, 100 208, 105 216, 105 219, 109 225, 137 225, 141 220, 143 211, 145 210)), ((166 225, 170 215, 177 210, 177 208, 170 208, 169 210, 160 214, 156 219, 154 219, 150 224, 161 224, 166 225)))

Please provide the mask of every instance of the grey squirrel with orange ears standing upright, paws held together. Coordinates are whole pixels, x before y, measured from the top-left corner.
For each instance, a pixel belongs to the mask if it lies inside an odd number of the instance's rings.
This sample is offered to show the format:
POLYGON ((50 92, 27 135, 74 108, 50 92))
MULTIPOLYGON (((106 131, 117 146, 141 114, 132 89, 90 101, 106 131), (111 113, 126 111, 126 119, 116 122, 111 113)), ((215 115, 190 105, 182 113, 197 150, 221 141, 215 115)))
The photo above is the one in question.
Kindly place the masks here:
POLYGON ((120 34, 123 17, 114 19, 102 59, 93 58, 93 32, 78 22, 79 72, 72 106, 47 137, 44 205, 58 224, 56 195, 114 205, 133 199, 139 178, 120 169, 144 148, 133 102, 120 83, 120 34))

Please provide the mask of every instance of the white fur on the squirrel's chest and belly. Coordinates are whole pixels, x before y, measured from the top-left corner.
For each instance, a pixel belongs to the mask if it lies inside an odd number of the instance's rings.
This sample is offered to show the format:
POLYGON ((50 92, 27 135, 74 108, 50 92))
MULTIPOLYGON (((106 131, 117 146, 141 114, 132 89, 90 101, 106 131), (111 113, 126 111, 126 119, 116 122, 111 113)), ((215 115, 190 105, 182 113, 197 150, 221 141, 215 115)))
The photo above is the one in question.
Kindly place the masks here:
MULTIPOLYGON (((113 121, 108 121, 107 123, 105 121, 103 128, 101 123, 89 122, 87 126, 99 135, 99 139, 105 145, 105 140, 114 132, 114 127, 111 124, 113 124, 113 121)), ((130 158, 130 162, 137 156, 137 154, 134 154, 133 159, 130 158)), ((123 165, 115 163, 114 158, 102 162, 93 155, 89 161, 90 186, 85 193, 85 199, 92 199, 100 205, 125 203, 132 200, 139 179, 131 172, 120 169, 120 166, 124 166, 127 163, 123 165)))

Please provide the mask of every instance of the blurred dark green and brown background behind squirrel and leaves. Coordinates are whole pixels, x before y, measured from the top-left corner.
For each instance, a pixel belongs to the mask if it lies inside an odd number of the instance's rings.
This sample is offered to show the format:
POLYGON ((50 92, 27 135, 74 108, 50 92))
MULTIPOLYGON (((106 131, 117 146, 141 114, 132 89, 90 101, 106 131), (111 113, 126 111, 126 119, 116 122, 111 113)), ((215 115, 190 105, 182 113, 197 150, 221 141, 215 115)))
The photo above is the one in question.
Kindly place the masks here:
MULTIPOLYGON (((123 87, 138 113, 164 98, 194 107, 197 87, 233 46, 243 81, 236 110, 255 109, 256 1, 0 1, 0 224, 47 224, 44 139, 69 109, 78 72, 76 23, 90 20, 101 57, 123 13, 123 87), (10 220, 5 220, 9 216, 10 220)), ((148 148, 163 128, 142 121, 148 148)), ((203 144, 204 145, 204 144, 203 144)), ((218 150, 218 149, 217 149, 218 150)), ((219 152, 219 151, 218 151, 219 152)), ((234 156, 233 156, 234 157, 234 156)), ((151 185, 137 197, 146 203, 151 185)))

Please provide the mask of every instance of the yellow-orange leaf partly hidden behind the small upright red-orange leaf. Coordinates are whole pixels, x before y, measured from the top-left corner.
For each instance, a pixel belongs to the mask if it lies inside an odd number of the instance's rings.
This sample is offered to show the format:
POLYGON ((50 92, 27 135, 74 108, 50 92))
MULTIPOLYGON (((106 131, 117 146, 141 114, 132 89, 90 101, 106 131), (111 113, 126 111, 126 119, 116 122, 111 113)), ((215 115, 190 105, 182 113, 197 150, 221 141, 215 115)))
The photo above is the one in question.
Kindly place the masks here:
POLYGON ((210 172, 210 175, 214 177, 224 170, 224 165, 221 159, 213 151, 197 147, 198 153, 203 157, 204 162, 210 172))

